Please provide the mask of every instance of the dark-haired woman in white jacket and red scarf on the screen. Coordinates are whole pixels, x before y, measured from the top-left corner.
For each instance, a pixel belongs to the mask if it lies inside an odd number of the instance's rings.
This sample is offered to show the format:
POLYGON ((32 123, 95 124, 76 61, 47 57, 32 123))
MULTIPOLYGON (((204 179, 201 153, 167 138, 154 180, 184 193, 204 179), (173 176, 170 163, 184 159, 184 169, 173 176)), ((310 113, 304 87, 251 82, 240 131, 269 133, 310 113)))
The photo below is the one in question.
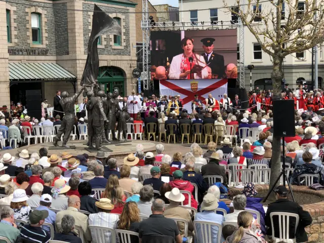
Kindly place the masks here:
POLYGON ((194 79, 207 78, 208 70, 206 68, 194 68, 195 65, 205 67, 206 63, 203 56, 195 53, 193 49, 193 39, 185 37, 181 41, 183 54, 172 58, 170 65, 170 79, 190 79, 190 60, 191 59, 191 77, 194 79))

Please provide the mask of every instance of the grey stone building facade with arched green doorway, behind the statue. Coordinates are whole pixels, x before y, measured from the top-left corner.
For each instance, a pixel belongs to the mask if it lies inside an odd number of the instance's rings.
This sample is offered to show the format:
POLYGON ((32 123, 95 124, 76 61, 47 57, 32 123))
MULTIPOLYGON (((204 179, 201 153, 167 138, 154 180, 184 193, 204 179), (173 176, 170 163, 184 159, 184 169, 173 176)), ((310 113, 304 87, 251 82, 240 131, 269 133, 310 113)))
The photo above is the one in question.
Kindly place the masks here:
POLYGON ((103 35, 98 41, 101 75, 98 82, 106 92, 118 88, 121 95, 131 93, 131 84, 136 81, 132 77, 136 67, 136 21, 135 14, 129 12, 135 12, 136 3, 129 0, 11 0, 10 3, 0 2, 3 26, 0 29, 0 105, 9 106, 10 100, 25 104, 28 89, 41 90, 42 98, 53 105, 56 90, 74 93, 80 89, 94 4, 115 18, 122 28, 121 36, 103 35), (56 63, 74 75, 74 80, 37 79, 46 73, 32 68, 13 70, 11 63, 18 63, 22 68, 33 63, 56 63), (32 78, 20 78, 23 74, 32 78))

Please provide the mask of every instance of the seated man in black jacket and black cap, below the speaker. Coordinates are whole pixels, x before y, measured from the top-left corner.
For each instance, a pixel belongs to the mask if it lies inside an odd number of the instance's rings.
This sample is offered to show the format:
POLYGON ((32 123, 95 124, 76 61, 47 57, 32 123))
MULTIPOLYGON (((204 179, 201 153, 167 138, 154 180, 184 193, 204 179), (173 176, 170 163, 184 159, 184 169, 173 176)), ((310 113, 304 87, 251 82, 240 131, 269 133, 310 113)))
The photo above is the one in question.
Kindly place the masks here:
MULTIPOLYGON (((269 227, 267 230, 267 235, 272 235, 270 213, 292 213, 299 216, 299 222, 296 222, 295 217, 290 217, 289 238, 294 239, 296 237, 296 242, 308 241, 305 227, 311 224, 312 217, 308 212, 304 211, 298 203, 288 199, 289 191, 286 186, 278 186, 274 192, 277 200, 268 206, 267 214, 265 216, 265 225, 269 227), (298 223, 298 227, 295 234, 296 223, 298 223)), ((278 216, 273 216, 272 218, 275 236, 273 240, 276 240, 276 238, 279 238, 279 221, 278 216)), ((288 227, 288 225, 285 225, 284 227, 288 227)))

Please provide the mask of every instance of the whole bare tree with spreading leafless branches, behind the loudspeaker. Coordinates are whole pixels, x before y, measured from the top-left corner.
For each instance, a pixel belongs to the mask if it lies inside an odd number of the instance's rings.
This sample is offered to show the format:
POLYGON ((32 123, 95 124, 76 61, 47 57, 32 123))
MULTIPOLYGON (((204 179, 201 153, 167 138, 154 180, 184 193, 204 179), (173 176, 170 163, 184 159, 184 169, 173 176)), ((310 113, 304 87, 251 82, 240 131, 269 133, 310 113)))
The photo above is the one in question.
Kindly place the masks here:
MULTIPOLYGON (((255 36, 262 50, 271 56, 273 99, 280 99, 284 58, 323 42, 324 18, 321 9, 324 0, 305 0, 303 3, 298 3, 298 0, 246 0, 244 7, 240 0, 235 1, 236 6, 229 6, 225 0, 223 3, 227 11, 237 15, 255 36), (264 4, 266 8, 260 10, 262 3, 267 3, 264 4)), ((270 187, 280 173, 280 138, 273 138, 272 151, 270 187)))

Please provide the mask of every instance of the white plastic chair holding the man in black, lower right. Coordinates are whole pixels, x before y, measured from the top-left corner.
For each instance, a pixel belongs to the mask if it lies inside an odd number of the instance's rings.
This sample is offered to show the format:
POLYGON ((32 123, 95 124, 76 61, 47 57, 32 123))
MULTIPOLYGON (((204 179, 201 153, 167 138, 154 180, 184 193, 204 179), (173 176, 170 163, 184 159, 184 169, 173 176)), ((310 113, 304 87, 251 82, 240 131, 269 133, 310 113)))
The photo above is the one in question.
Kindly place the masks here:
POLYGON ((296 225, 295 225, 295 234, 297 231, 298 223, 299 223, 299 215, 298 214, 291 214, 291 213, 283 213, 283 212, 272 212, 270 213, 270 220, 271 220, 271 228, 272 228, 272 239, 275 238, 274 236, 274 225, 273 225, 273 216, 278 216, 278 224, 279 224, 279 241, 289 239, 289 225, 290 225, 290 217, 296 218, 296 225))

